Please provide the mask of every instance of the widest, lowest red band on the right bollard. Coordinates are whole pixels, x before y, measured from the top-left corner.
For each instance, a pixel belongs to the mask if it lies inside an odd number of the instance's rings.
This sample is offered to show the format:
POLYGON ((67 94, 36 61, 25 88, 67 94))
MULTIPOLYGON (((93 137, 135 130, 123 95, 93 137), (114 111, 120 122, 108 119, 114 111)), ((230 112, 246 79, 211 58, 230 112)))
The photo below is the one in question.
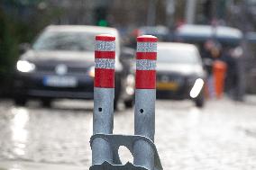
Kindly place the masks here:
POLYGON ((136 89, 155 89, 156 70, 136 70, 136 89))

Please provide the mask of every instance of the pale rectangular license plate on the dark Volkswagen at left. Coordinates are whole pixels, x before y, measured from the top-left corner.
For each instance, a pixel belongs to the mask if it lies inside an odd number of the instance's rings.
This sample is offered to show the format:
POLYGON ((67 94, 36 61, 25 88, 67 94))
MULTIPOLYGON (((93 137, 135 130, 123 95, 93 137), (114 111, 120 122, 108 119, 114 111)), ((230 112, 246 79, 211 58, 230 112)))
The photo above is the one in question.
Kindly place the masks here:
POLYGON ((76 87, 78 80, 74 76, 45 76, 42 83, 53 87, 76 87))

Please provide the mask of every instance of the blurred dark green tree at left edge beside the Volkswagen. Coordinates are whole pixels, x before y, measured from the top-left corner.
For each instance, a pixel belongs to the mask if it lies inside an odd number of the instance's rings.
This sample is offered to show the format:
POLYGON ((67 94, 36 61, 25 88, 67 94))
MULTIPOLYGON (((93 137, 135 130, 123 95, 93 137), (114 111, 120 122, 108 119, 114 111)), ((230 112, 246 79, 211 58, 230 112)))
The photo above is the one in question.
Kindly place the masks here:
POLYGON ((14 65, 19 57, 18 44, 32 42, 61 14, 58 6, 47 7, 42 0, 0 1, 0 91, 11 86, 14 65))

